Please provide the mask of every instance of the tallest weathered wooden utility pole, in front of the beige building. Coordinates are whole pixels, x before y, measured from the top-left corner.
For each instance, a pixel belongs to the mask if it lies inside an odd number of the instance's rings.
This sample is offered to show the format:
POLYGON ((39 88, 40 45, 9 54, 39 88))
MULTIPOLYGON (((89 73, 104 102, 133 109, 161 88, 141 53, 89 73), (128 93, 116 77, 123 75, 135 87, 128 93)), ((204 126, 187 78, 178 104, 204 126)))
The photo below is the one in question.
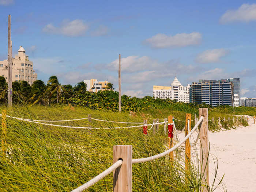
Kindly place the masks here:
POLYGON ((11 15, 8 16, 8 105, 12 106, 12 42, 11 15))

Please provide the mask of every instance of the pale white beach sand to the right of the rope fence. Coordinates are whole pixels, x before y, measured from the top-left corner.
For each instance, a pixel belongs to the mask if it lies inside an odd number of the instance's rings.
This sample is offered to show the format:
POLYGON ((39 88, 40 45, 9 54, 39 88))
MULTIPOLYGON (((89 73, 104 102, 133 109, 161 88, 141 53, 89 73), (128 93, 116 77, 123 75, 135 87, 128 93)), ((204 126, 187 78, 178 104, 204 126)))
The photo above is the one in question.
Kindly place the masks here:
MULTIPOLYGON (((223 183, 228 192, 256 191, 256 124, 221 132, 209 132, 210 153, 218 158, 218 176, 225 174, 223 183)), ((214 162, 209 163, 210 183, 214 162)), ((218 189, 216 191, 223 191, 218 189)))

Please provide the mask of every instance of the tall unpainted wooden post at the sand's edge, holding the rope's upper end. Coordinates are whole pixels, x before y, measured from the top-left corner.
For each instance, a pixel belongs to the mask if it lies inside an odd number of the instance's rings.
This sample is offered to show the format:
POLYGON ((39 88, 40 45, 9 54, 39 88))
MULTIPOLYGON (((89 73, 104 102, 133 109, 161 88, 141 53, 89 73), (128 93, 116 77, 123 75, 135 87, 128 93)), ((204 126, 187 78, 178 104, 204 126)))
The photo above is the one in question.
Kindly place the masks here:
MULTIPOLYGON (((200 123, 199 139, 200 139, 200 161, 201 161, 201 174, 203 174, 202 182, 209 185, 209 141, 208 141, 208 109, 199 108, 199 117, 204 116, 203 121, 200 123)), ((203 192, 207 191, 206 187, 202 188, 203 192)))

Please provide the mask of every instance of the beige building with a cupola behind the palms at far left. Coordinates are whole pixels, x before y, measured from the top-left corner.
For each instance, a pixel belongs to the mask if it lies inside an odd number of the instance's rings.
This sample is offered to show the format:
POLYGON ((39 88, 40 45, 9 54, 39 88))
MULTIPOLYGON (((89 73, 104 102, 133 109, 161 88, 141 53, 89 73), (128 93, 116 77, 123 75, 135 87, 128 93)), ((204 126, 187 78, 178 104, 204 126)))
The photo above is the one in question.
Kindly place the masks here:
MULTIPOLYGON (((20 46, 18 55, 12 58, 12 82, 27 81, 30 85, 37 80, 37 74, 33 70, 33 62, 29 61, 25 49, 20 46)), ((8 61, 0 61, 0 75, 8 82, 8 61)))

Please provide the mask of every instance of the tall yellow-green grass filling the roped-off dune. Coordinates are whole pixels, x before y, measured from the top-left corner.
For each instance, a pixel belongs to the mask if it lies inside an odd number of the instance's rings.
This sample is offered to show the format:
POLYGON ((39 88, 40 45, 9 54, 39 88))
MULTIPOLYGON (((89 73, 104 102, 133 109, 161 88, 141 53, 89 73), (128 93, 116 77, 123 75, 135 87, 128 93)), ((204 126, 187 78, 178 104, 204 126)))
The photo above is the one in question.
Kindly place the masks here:
MULTIPOLYGON (((1 106, 0 110, 2 109, 7 108, 1 106)), ((83 118, 92 114, 94 118, 127 122, 143 122, 147 117, 148 123, 152 122, 151 118, 173 114, 178 119, 185 120, 184 113, 167 110, 129 114, 72 106, 14 106, 7 109, 7 114, 40 120, 83 118)), ((209 115, 209 119, 211 115, 214 113, 209 115)), ((55 124, 87 127, 88 121, 55 124)), ((118 126, 131 124, 92 121, 92 127, 118 126)), ((183 126, 182 122, 176 124, 177 128, 183 126)), ((133 158, 148 157, 167 149, 163 125, 159 126, 159 133, 156 135, 151 130, 148 136, 144 136, 142 128, 97 129, 91 130, 90 135, 87 129, 52 127, 7 118, 6 141, 7 155, 0 155, 1 191, 71 191, 112 165, 114 145, 132 145, 133 158)), ((202 175, 199 167, 195 163, 191 164, 190 183, 185 184, 185 170, 181 163, 184 158, 180 155, 184 154, 184 149, 180 147, 175 153, 174 164, 170 163, 168 157, 133 164, 133 191, 200 191, 202 175)), ((208 189, 214 190, 211 186, 208 189)), ((112 174, 87 191, 112 191, 112 174)))

